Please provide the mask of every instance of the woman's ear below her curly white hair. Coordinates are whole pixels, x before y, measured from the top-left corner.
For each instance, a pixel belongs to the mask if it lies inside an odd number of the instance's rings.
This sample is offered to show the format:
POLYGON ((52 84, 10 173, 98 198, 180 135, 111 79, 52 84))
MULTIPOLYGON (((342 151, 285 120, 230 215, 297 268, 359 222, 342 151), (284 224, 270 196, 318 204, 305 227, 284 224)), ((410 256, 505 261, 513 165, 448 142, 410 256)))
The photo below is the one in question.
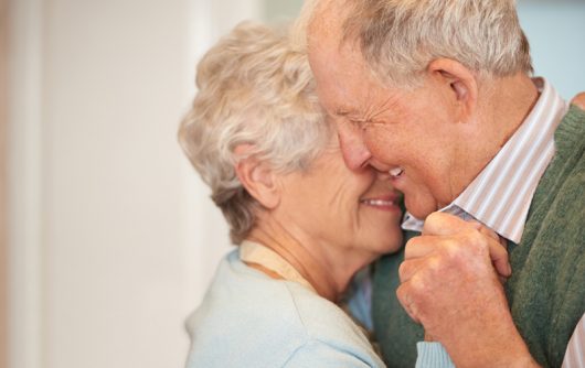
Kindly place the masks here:
POLYGON ((235 172, 246 191, 264 207, 273 209, 280 203, 276 176, 266 162, 249 154, 253 148, 251 144, 240 144, 235 148, 236 156, 244 156, 236 163, 235 172))

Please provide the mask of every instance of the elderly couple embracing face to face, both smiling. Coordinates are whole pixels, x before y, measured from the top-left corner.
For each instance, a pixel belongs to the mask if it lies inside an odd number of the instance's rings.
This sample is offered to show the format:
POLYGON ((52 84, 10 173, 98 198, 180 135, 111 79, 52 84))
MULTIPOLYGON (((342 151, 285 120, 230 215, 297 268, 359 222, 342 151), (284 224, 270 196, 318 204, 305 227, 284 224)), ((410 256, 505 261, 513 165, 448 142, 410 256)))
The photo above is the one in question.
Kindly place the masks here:
POLYGON ((583 367, 585 101, 513 0, 308 1, 196 84, 180 141, 237 247, 188 367, 583 367))

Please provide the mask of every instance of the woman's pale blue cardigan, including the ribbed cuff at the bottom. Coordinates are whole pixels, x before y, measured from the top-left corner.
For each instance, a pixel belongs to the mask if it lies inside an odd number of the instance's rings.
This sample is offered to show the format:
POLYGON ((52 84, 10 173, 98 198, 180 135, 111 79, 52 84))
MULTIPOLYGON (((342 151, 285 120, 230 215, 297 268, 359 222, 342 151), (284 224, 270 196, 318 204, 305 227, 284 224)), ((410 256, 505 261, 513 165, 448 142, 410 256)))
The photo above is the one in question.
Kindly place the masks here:
MULTIPOLYGON (((188 368, 385 367, 338 305, 296 282, 247 267, 237 250, 219 266, 187 328, 188 368)), ((422 348, 417 367, 449 367, 438 344, 422 348)))

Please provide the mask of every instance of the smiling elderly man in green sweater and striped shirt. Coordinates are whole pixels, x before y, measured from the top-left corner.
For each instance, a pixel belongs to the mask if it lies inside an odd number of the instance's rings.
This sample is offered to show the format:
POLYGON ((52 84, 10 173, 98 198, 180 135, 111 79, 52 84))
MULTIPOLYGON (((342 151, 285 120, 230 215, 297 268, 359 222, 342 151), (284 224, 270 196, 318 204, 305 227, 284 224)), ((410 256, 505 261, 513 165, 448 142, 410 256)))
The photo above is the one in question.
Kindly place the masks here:
POLYGON ((413 366, 423 336, 460 367, 583 359, 585 112, 531 78, 514 1, 321 0, 305 12, 345 164, 387 175, 405 195, 403 228, 422 231, 374 277, 389 366, 413 366), (503 286, 469 220, 508 243, 503 286))

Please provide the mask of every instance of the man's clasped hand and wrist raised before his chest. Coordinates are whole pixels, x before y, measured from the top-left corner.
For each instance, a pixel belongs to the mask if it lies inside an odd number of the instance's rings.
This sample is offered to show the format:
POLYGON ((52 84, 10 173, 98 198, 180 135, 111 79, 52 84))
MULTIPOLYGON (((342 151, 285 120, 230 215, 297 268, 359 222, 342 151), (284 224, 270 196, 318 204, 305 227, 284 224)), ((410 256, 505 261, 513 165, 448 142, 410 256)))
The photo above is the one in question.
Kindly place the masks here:
POLYGON ((457 367, 535 365, 518 333, 498 272, 508 253, 480 225, 435 213, 406 245, 396 291, 411 317, 457 367))

